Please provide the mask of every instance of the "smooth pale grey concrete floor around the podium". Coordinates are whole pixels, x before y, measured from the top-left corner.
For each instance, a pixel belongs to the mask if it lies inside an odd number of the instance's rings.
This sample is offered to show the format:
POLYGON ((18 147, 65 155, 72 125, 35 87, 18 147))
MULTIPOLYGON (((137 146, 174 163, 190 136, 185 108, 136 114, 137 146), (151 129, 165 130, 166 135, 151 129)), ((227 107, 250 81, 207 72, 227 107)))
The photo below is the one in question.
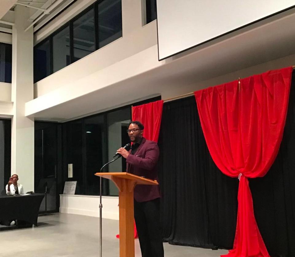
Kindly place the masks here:
MULTIPOLYGON (((119 222, 103 219, 103 257, 119 256, 119 222)), ((18 229, 0 225, 0 256, 99 256, 99 219, 62 214, 40 216, 38 227, 18 229)), ((226 250, 175 246, 164 243, 165 257, 213 257, 226 250)), ((135 256, 140 257, 140 246, 135 239, 135 256)))

